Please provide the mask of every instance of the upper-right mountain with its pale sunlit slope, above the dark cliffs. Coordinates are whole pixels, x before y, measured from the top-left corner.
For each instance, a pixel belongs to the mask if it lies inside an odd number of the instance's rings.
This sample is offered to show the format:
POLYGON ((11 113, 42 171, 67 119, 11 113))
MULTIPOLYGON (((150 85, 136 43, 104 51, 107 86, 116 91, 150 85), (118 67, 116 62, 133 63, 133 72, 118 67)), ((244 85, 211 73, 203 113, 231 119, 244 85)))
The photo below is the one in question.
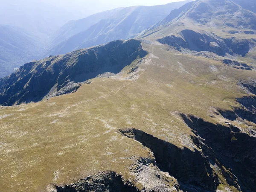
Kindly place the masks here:
POLYGON ((253 38, 256 14, 231 0, 198 0, 173 10, 165 19, 138 35, 138 38, 180 36, 184 29, 222 38, 253 38))

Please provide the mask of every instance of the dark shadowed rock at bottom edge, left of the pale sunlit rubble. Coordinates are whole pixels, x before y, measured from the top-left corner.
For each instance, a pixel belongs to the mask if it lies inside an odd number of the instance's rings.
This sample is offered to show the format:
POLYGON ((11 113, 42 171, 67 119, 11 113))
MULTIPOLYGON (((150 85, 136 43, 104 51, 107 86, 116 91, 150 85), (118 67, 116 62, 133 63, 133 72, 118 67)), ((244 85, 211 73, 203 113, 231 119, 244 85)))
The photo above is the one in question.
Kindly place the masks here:
POLYGON ((76 183, 55 186, 55 192, 140 192, 116 172, 106 171, 88 176, 76 183))

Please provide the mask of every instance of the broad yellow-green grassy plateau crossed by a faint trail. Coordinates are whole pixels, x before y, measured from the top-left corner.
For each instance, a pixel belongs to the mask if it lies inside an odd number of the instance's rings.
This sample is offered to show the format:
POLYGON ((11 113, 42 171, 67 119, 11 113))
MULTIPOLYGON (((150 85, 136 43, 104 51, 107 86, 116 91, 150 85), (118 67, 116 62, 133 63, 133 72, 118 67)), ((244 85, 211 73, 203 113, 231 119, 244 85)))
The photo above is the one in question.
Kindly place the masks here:
POLYGON ((132 179, 128 167, 148 151, 116 133, 118 128, 138 128, 192 148, 192 132, 175 111, 223 124, 221 116, 209 115, 214 108, 238 106, 235 98, 245 95, 238 79, 256 76, 255 70, 229 68, 164 45, 143 47, 150 54, 137 80, 93 79, 73 94, 0 109, 3 192, 44 191, 49 183, 72 183, 101 170, 132 179))

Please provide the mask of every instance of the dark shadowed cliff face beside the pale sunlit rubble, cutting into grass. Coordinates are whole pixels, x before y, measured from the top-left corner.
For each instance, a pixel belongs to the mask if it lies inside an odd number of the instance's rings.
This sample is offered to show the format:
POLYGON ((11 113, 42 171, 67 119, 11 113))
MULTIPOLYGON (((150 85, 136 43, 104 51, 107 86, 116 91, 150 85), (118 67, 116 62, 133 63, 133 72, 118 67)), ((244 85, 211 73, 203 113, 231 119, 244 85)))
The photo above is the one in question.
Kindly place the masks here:
POLYGON ((183 183, 183 187, 190 185, 201 187, 201 190, 215 191, 218 181, 207 158, 200 151, 196 149, 192 151, 186 147, 178 148, 172 143, 134 128, 122 129, 120 132, 150 148, 156 158, 157 166, 183 183))

